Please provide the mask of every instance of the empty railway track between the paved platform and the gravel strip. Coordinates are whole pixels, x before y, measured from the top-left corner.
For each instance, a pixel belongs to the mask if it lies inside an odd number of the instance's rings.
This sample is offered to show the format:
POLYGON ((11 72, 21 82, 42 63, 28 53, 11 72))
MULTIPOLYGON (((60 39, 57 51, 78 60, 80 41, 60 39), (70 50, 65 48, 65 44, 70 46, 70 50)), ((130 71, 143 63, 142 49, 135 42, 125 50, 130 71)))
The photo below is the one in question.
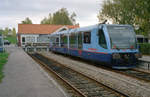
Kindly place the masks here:
POLYGON ((74 71, 40 54, 29 54, 34 60, 53 72, 81 97, 128 97, 96 80, 74 71))

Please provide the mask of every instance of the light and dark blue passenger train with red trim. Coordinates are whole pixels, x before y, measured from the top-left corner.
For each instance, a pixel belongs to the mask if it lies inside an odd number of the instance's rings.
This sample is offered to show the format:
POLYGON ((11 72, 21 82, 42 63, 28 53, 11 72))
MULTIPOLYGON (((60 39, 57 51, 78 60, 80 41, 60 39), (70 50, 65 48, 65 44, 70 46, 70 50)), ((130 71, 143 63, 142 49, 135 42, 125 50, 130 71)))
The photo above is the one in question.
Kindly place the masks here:
POLYGON ((96 24, 50 34, 50 50, 113 69, 135 68, 141 58, 132 25, 96 24))

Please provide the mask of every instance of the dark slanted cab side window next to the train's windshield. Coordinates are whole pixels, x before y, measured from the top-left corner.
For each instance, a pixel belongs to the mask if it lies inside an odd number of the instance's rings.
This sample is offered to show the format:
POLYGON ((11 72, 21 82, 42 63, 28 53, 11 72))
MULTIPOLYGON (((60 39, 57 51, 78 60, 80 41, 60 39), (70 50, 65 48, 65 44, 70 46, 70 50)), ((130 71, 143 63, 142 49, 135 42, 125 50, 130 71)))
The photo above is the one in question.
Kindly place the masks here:
POLYGON ((100 44, 100 46, 107 49, 104 31, 102 29, 99 29, 98 33, 99 33, 99 44, 100 44))

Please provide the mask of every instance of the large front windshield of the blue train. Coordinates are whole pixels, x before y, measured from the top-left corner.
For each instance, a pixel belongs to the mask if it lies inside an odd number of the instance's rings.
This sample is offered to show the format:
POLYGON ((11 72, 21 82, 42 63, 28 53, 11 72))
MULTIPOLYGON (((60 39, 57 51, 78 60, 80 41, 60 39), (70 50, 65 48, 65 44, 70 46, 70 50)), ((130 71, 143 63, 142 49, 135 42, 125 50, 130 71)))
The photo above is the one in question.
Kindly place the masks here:
POLYGON ((136 37, 132 26, 107 26, 112 49, 136 48, 136 37))

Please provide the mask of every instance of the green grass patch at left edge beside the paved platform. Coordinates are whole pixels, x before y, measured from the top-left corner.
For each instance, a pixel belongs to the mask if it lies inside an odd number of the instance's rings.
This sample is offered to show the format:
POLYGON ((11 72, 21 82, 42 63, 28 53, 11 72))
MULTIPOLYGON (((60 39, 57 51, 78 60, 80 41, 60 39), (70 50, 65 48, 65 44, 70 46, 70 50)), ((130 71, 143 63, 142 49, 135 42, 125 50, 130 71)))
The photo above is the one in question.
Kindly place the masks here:
POLYGON ((0 82, 2 81, 3 75, 3 66, 6 64, 8 58, 8 53, 2 52, 0 53, 0 82))

